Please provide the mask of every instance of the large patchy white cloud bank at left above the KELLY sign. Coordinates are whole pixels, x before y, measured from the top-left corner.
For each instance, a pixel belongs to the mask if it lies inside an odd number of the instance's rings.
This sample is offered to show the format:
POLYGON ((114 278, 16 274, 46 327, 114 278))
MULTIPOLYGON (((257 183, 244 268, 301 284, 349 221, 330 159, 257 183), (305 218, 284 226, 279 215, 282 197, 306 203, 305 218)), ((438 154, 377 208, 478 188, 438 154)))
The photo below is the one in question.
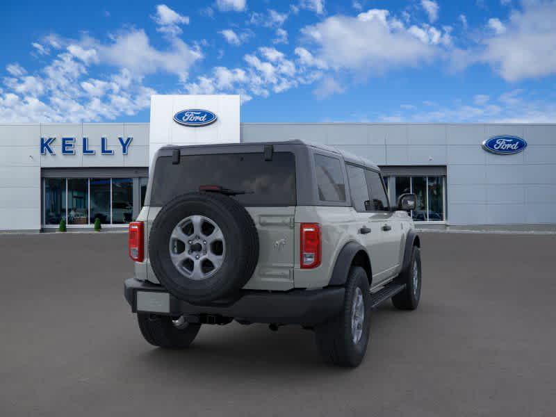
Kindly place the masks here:
POLYGON ((51 57, 41 58, 49 62, 31 74, 17 64, 6 68, 10 76, 2 80, 0 121, 95 122, 134 115, 148 108, 156 93, 143 84, 146 75, 166 72, 185 82, 190 66, 202 58, 197 47, 179 38, 166 42, 166 49, 157 49, 135 28, 111 35, 108 42, 55 34, 33 42, 51 51, 51 57), (97 66, 102 76, 91 77, 97 66))

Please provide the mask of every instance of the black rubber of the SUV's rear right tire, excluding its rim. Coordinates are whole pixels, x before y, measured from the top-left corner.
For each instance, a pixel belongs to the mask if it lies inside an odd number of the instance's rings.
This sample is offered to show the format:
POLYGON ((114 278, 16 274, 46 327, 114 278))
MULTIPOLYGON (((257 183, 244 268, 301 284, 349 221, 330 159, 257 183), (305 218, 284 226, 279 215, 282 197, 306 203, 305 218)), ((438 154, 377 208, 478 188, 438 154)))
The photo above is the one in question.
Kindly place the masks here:
POLYGON ((370 334, 370 292, 367 273, 359 266, 350 269, 345 284, 345 298, 341 313, 333 320, 315 328, 318 350, 328 363, 356 367, 365 357, 370 334), (357 288, 363 295, 363 332, 357 343, 352 332, 352 309, 357 288))

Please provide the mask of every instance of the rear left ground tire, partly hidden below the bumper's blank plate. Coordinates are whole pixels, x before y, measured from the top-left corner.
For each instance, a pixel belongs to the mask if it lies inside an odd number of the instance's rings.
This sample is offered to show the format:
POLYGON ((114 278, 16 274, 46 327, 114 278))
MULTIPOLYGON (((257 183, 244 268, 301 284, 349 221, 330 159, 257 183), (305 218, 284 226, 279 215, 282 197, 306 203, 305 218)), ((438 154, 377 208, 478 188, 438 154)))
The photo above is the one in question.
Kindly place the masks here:
POLYGON ((185 349, 199 333, 201 325, 189 323, 185 329, 178 329, 169 316, 138 313, 137 321, 141 334, 151 345, 165 349, 185 349))

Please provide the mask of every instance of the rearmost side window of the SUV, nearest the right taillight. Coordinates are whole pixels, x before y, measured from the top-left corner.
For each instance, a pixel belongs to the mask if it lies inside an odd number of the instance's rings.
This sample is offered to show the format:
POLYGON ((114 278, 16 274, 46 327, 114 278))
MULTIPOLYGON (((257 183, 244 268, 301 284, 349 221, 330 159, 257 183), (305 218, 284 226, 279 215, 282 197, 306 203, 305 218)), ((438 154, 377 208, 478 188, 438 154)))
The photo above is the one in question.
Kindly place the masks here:
POLYGON ((345 202, 345 183, 340 160, 315 155, 318 197, 323 202, 345 202))

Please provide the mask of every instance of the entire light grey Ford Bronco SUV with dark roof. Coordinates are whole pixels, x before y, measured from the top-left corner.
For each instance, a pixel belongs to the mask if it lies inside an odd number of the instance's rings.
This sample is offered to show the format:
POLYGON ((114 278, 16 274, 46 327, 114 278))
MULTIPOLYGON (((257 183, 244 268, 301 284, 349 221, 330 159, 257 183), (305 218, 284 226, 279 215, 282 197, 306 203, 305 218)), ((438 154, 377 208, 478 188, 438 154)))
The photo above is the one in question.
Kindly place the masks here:
POLYGON ((357 366, 373 307, 418 305, 415 198, 391 207, 377 165, 300 140, 163 147, 129 225, 126 300, 152 345, 188 347, 203 324, 297 324, 357 366))

